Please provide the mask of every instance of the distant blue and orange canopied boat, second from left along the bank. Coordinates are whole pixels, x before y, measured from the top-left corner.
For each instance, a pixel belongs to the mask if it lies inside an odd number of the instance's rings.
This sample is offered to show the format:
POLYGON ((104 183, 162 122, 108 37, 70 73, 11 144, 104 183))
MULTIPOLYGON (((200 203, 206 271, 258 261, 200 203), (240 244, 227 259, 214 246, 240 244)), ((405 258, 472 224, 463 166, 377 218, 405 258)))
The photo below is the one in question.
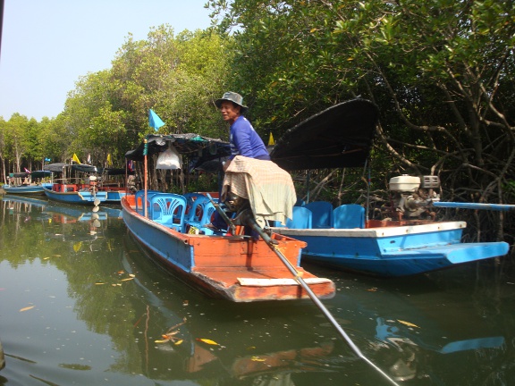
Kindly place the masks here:
POLYGON ((97 167, 88 164, 46 164, 44 170, 59 174, 51 188, 43 191, 51 200, 81 205, 98 205, 106 201, 106 191, 97 188, 97 167))

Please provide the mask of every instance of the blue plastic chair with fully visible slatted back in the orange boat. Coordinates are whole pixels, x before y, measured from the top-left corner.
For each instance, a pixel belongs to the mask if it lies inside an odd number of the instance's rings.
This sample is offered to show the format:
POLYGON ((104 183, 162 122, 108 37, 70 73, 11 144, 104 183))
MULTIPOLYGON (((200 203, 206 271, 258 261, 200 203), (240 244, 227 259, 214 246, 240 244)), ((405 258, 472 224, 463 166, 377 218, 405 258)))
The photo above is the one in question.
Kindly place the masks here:
POLYGON ((184 231, 186 198, 174 193, 157 193, 150 197, 150 219, 174 231, 184 231))

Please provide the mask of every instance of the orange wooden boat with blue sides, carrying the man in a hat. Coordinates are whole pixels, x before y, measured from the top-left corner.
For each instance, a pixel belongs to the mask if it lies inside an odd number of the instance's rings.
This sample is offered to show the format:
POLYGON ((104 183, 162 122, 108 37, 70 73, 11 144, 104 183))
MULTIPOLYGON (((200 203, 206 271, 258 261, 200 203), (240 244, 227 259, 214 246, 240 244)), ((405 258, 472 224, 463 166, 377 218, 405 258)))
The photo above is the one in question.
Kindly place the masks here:
MULTIPOLYGON (((149 136, 143 146, 126 157, 147 164, 147 155, 164 151, 170 143, 182 155, 201 153, 198 164, 228 155, 229 151, 229 145, 223 141, 177 134, 149 136)), ((308 298, 266 240, 236 233, 207 234, 207 229, 198 222, 195 229, 205 234, 190 233, 189 220, 185 220, 186 202, 182 195, 140 190, 122 197, 123 221, 156 261, 211 296, 234 302, 308 298)), ((333 297, 333 281, 317 278, 300 267, 304 242, 279 234, 272 238, 275 248, 296 268, 317 297, 333 297)))

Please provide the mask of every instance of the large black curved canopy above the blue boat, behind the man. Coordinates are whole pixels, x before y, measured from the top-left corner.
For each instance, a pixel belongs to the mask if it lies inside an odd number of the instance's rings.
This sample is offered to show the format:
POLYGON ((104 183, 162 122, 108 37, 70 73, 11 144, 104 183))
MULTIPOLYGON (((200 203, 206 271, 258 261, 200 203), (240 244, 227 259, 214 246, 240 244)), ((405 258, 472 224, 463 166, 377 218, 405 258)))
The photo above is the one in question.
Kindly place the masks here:
POLYGON ((284 133, 270 156, 284 170, 362 166, 379 116, 366 99, 352 99, 311 116, 284 133))

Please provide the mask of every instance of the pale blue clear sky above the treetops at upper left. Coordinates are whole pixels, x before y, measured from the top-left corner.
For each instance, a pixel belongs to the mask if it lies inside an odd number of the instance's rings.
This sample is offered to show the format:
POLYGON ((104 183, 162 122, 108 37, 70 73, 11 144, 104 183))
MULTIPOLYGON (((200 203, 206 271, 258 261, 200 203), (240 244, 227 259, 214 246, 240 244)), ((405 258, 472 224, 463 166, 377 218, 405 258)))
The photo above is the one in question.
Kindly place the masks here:
POLYGON ((68 92, 89 72, 111 68, 131 33, 151 27, 175 34, 206 29, 207 0, 4 0, 0 53, 0 116, 54 118, 68 92))

